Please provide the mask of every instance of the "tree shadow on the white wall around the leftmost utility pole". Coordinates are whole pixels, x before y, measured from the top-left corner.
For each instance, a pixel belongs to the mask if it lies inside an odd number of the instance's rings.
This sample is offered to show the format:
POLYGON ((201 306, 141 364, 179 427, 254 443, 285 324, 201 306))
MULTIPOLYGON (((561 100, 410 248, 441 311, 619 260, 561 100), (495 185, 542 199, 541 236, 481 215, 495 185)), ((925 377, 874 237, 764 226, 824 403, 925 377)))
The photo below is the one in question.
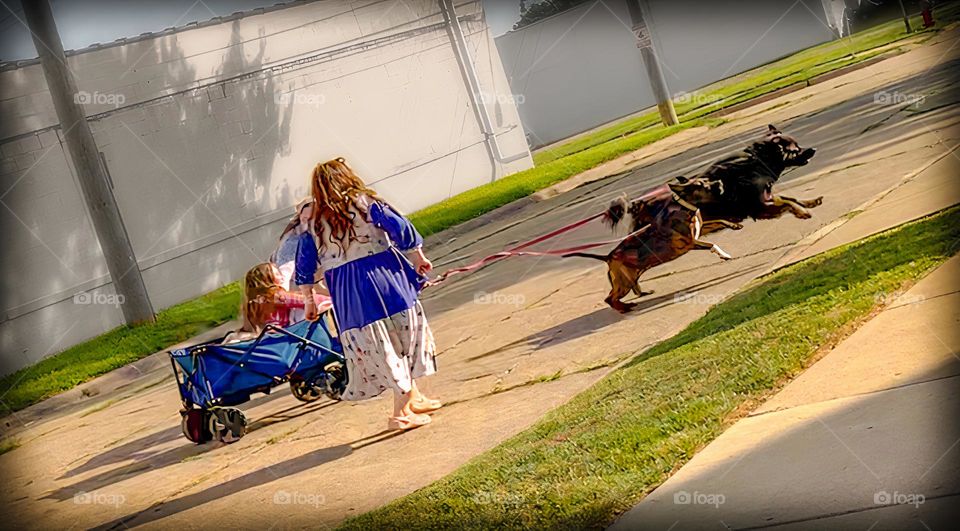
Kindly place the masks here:
MULTIPOLYGON (((271 223, 277 210, 296 202, 300 183, 289 178, 300 176, 274 171, 289 152, 294 105, 277 98, 276 74, 261 71, 264 31, 240 20, 228 27, 215 72, 187 58, 179 34, 98 52, 107 54, 103 68, 112 69, 114 84, 127 84, 112 90, 131 103, 89 106, 88 112, 102 113, 91 128, 157 310, 231 282, 265 259, 282 224, 271 223), (233 74, 238 70, 244 73, 233 74), (234 77, 209 81, 226 75, 234 77), (209 84, 185 88, 198 83, 209 84), (171 90, 179 92, 156 97, 171 90), (154 99, 132 103, 144 98, 154 99)), ((47 143, 56 146, 56 133, 44 135, 44 150, 47 143)), ((3 325, 4 351, 22 354, 3 357, 4 373, 122 324, 116 306, 73 303, 77 292, 113 292, 69 155, 59 150, 43 151, 36 168, 25 178, 19 174, 5 198, 10 210, 0 209, 11 242, 4 275, 13 277, 4 308, 35 301, 3 325), (30 271, 31 280, 19 271, 30 271)))

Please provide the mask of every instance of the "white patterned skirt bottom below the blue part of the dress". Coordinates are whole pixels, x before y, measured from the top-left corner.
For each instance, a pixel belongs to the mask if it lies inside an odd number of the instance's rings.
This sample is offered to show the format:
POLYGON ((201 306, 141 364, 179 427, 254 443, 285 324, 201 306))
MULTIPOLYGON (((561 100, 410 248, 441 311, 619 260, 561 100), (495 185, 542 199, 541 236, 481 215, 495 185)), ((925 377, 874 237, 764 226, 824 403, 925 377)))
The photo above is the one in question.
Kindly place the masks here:
POLYGON ((347 359, 344 400, 366 400, 387 389, 410 391, 412 380, 437 371, 436 345, 423 307, 340 333, 347 359))

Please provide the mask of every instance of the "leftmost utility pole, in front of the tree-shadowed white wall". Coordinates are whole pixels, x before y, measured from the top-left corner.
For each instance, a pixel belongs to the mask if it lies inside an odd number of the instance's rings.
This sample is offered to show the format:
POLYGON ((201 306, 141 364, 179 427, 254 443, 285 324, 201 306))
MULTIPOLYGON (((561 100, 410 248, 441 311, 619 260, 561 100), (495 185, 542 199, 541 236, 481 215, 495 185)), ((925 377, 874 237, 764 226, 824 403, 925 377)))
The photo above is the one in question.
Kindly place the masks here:
POLYGON ((154 321, 153 306, 143 284, 133 246, 130 245, 117 200, 100 161, 93 132, 76 96, 76 80, 67 67, 50 3, 48 0, 24 0, 23 14, 40 55, 47 88, 57 119, 60 120, 67 150, 77 170, 77 179, 100 241, 100 250, 119 296, 123 318, 127 324, 154 321))

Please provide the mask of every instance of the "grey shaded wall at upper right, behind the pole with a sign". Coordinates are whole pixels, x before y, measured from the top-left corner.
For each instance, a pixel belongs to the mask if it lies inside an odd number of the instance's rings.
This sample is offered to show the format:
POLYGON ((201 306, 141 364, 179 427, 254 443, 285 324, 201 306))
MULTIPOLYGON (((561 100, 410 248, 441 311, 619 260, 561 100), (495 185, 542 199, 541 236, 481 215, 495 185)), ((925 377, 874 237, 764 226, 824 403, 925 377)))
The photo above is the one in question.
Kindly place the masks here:
MULTIPOLYGON (((820 0, 647 0, 673 94, 833 38, 820 0)), ((624 0, 497 37, 520 117, 542 146, 655 104, 624 0)))

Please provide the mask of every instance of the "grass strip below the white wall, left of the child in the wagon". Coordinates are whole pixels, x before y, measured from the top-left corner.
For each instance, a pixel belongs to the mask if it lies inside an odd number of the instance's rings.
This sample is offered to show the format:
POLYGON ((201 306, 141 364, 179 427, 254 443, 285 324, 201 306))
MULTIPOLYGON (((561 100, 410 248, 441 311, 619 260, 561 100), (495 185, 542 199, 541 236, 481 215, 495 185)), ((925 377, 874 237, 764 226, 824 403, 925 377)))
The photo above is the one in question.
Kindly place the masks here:
POLYGON ((121 326, 0 379, 0 415, 105 374, 223 324, 237 315, 240 285, 172 306, 156 323, 121 326))

